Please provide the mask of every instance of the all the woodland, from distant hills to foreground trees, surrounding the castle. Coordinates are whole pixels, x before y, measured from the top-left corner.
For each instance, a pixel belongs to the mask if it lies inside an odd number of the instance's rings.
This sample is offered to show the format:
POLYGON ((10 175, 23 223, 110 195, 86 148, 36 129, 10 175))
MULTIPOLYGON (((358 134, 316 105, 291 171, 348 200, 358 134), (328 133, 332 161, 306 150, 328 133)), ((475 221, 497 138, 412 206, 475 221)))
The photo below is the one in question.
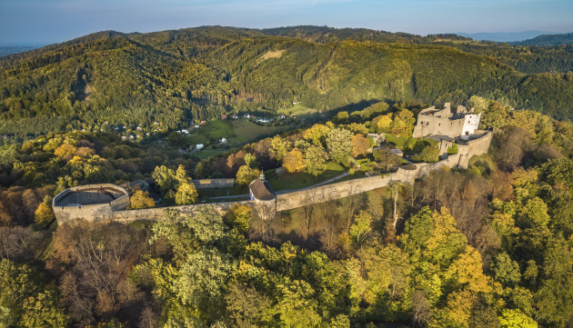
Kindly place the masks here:
POLYGON ((1 57, 0 326, 573 327, 572 66, 571 45, 318 26, 101 32, 1 57), (282 191, 388 174, 407 164, 391 148, 436 162, 412 130, 447 102, 494 131, 467 169, 270 217, 55 222, 52 198, 81 184, 153 180, 155 199, 130 190, 140 209, 209 202, 189 179, 236 178, 233 196, 261 173, 282 191), (213 155, 174 132, 301 106, 316 116, 213 155), (371 153, 368 134, 385 134, 371 153))

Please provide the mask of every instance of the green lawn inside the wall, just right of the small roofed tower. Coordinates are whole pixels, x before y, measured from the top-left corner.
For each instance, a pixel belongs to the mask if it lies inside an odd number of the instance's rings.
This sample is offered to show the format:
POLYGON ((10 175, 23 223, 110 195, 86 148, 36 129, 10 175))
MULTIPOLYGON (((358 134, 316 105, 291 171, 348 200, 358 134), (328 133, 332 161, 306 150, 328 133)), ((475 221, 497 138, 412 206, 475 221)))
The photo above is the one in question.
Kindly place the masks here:
MULTIPOLYGON (((265 172, 266 181, 272 185, 276 192, 282 190, 290 189, 301 189, 311 186, 313 184, 319 184, 328 179, 334 178, 337 175, 345 173, 346 169, 340 164, 334 162, 327 163, 327 171, 324 174, 320 174, 315 178, 312 174, 307 174, 306 172, 298 172, 296 174, 280 174, 277 175, 275 170, 268 170, 265 172)), ((337 180, 338 182, 338 180, 337 180)))

